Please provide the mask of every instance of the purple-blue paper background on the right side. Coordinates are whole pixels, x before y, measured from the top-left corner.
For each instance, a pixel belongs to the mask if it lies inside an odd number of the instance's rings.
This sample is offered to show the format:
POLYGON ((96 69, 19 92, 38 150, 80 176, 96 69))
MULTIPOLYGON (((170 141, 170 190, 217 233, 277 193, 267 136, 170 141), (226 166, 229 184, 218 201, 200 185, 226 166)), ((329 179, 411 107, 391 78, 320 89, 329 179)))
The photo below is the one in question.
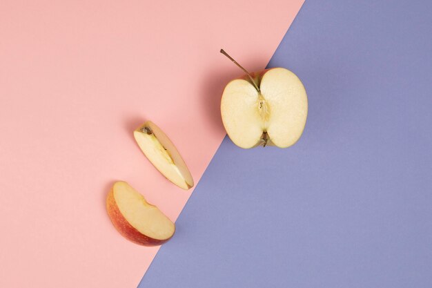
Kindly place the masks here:
POLYGON ((269 64, 306 86, 302 139, 226 138, 139 287, 432 287, 431 13, 306 0, 269 64))

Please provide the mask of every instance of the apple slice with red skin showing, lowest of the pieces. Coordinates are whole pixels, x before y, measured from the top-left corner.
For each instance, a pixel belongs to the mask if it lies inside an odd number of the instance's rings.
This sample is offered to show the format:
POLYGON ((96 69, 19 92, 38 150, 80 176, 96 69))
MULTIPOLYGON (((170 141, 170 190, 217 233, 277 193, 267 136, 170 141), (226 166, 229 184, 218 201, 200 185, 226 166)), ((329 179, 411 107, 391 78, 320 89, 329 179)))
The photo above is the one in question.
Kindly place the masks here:
POLYGON ((175 224, 126 182, 112 186, 106 210, 121 235, 137 244, 157 246, 174 235, 175 224))

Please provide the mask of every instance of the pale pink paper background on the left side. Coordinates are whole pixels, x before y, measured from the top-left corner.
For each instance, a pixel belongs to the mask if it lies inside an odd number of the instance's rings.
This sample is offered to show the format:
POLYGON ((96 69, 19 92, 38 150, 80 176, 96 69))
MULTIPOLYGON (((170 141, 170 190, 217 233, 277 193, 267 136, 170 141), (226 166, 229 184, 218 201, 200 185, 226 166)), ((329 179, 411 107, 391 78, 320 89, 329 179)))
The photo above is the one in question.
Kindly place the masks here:
POLYGON ((0 3, 0 286, 135 287, 157 247, 112 227, 105 198, 128 181, 173 220, 182 191, 132 130, 151 119, 195 183, 224 131, 219 99, 266 66, 303 1, 0 3))

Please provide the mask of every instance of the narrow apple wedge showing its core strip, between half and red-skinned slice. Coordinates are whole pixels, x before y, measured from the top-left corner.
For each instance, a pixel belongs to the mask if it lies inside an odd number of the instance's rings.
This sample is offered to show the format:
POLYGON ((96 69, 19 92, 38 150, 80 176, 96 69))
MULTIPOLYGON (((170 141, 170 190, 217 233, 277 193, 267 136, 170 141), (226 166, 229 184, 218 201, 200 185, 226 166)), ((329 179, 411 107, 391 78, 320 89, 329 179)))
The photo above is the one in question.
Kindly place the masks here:
POLYGON ((144 155, 168 180, 182 189, 193 187, 193 177, 173 142, 153 122, 147 121, 133 133, 144 155))

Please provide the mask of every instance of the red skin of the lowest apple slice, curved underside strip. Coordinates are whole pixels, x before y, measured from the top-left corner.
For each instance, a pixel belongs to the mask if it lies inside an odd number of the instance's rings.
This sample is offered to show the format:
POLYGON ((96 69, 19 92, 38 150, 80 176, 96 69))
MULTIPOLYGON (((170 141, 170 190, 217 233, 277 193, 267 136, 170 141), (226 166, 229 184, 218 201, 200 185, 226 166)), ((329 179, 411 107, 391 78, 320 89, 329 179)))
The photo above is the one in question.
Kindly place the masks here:
POLYGON ((173 237, 171 236, 170 238, 164 240, 153 239, 141 234, 137 229, 132 227, 132 225, 130 225, 126 218, 124 218, 124 216, 121 214, 119 207, 115 202, 114 191, 112 189, 106 198, 106 211, 108 212, 108 216, 110 217, 115 229, 117 229, 117 231, 119 231, 119 233, 124 236, 124 238, 136 244, 143 246, 159 246, 173 237))

